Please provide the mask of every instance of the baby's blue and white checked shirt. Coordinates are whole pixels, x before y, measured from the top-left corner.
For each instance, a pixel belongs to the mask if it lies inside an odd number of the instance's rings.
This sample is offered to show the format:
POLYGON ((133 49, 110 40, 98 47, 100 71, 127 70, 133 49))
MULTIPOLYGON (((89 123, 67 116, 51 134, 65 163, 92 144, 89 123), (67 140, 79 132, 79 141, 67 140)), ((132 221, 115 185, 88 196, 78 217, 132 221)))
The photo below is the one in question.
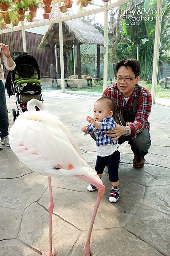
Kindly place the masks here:
POLYGON ((92 134, 93 132, 96 132, 96 145, 102 146, 102 145, 117 145, 118 140, 111 140, 111 137, 108 137, 106 135, 107 131, 111 131, 116 127, 116 122, 113 120, 113 117, 106 117, 101 122, 101 129, 99 130, 94 125, 88 124, 88 132, 86 134, 92 134))

